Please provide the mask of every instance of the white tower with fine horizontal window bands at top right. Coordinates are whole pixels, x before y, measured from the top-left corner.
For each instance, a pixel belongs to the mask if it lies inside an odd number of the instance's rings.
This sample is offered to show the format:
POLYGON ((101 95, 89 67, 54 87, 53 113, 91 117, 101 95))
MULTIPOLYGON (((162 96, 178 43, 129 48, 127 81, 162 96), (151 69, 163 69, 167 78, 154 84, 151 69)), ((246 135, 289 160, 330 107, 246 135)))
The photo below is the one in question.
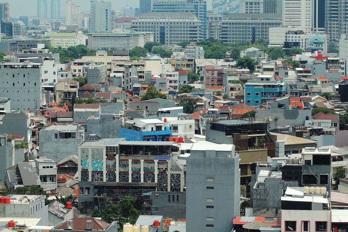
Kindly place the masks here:
POLYGON ((284 0, 283 24, 297 26, 304 33, 311 33, 312 0, 284 0))

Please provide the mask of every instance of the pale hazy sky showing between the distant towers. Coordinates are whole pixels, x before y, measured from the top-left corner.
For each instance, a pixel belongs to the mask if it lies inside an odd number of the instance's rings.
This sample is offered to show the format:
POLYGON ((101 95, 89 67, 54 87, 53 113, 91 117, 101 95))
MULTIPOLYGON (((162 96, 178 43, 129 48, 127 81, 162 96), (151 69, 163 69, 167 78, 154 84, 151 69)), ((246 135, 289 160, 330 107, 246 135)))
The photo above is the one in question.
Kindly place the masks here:
MULTIPOLYGON (((121 9, 127 6, 127 0, 109 1, 112 2, 112 9, 121 9)), ((207 0, 208 9, 212 9, 212 1, 213 0, 207 0)), ((5 2, 5 0, 0 0, 0 2, 5 2)), ((8 2, 10 3, 10 16, 35 16, 37 14, 37 0, 8 0, 8 2)), ((74 0, 74 2, 81 6, 81 11, 89 11, 89 0, 74 0)), ((48 0, 48 5, 50 5, 50 0, 48 0)), ((128 6, 139 7, 139 0, 128 0, 128 6)), ((47 13, 50 15, 49 9, 47 13)), ((65 0, 61 0, 61 16, 65 16, 65 0)))

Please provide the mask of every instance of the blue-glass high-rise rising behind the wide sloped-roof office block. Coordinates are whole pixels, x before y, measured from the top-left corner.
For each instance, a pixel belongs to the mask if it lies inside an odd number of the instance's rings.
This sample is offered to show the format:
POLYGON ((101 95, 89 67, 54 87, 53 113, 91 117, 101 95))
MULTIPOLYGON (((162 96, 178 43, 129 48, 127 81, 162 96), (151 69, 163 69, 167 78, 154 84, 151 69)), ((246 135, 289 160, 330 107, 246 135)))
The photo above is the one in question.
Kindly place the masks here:
MULTIPOLYGON (((239 1, 239 0, 238 0, 239 1)), ((201 39, 207 38, 207 1, 206 0, 152 0, 153 13, 192 13, 201 24, 201 39)))

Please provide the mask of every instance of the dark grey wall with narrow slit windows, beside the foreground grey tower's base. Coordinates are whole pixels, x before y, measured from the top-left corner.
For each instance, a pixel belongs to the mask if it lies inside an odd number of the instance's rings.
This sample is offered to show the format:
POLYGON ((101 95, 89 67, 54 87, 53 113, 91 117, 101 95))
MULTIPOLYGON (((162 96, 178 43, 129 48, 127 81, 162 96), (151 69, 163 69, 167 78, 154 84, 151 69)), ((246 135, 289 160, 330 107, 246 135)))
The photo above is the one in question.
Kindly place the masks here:
POLYGON ((175 220, 186 218, 186 194, 185 192, 152 192, 152 215, 161 215, 163 218, 170 217, 175 220), (171 201, 168 202, 168 195, 171 201), (173 202, 173 195, 175 202, 173 202), (179 201, 177 201, 179 196, 179 201), (156 211, 155 209, 158 209, 156 211))

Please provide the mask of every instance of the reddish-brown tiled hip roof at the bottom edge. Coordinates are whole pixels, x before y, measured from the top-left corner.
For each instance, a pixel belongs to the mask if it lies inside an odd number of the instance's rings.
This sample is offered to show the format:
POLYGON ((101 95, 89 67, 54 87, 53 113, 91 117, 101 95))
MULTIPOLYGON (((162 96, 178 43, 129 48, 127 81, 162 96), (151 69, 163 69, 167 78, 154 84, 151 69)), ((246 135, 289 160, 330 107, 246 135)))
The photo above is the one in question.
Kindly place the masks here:
MULTIPOLYGON (((72 230, 86 230, 86 221, 92 221, 92 230, 106 230, 111 224, 100 221, 93 217, 73 217, 72 219, 72 230)), ((68 222, 64 222, 60 226, 56 227, 55 230, 67 230, 68 222)))

